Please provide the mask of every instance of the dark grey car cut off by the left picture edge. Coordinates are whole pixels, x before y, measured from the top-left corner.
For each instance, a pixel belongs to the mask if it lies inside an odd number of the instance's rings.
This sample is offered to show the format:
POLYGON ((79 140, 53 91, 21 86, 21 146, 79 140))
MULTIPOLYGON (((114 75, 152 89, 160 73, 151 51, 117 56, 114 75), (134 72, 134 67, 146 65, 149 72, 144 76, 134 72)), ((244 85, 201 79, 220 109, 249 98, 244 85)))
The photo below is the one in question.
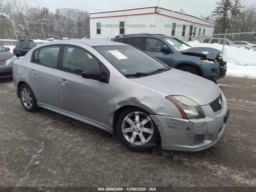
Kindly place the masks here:
POLYGON ((12 77, 12 64, 17 57, 10 51, 10 48, 0 44, 0 78, 12 77))

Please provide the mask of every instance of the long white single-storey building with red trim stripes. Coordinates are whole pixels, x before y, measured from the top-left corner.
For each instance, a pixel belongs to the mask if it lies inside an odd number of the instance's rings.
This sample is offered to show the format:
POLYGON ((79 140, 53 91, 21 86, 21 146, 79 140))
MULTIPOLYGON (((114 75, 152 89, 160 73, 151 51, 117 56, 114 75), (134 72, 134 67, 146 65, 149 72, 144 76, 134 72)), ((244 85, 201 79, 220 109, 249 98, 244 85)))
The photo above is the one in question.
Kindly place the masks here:
POLYGON ((120 34, 148 33, 187 40, 188 36, 211 35, 214 31, 213 22, 158 6, 93 12, 89 16, 90 38, 109 40, 120 34))

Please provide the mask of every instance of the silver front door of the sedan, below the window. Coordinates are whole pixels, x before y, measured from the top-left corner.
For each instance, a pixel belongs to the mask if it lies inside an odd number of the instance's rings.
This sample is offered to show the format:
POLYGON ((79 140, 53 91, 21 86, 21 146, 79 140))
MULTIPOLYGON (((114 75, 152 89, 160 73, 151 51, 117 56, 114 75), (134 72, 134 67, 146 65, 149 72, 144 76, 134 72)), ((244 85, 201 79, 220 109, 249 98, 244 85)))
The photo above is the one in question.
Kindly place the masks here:
MULTIPOLYGON (((60 108, 107 123, 108 84, 65 71, 58 72, 60 108)), ((58 98, 58 97, 56 97, 58 98)))

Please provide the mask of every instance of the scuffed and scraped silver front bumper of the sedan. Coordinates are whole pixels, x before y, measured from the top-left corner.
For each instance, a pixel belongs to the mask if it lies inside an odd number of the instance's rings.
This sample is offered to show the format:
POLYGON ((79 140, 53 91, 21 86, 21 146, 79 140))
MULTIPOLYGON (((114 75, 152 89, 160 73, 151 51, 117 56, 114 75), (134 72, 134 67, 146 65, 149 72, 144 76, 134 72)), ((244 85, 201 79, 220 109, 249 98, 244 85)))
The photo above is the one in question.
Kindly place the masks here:
POLYGON ((213 146, 224 134, 228 105, 226 100, 221 111, 213 112, 210 105, 201 106, 205 118, 178 119, 162 115, 150 115, 161 136, 165 150, 199 151, 213 146))

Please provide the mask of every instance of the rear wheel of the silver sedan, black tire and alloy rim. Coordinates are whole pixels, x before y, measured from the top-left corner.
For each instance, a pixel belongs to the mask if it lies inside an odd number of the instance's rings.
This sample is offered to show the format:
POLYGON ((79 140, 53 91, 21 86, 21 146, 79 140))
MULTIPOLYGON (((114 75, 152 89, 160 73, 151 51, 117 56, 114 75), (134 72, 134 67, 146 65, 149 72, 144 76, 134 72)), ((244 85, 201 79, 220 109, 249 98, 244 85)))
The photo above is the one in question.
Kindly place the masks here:
POLYGON ((20 86, 19 97, 22 106, 28 112, 35 112, 39 109, 36 103, 36 97, 28 84, 22 84, 22 86, 20 86), (26 92, 27 90, 28 92, 26 92))

